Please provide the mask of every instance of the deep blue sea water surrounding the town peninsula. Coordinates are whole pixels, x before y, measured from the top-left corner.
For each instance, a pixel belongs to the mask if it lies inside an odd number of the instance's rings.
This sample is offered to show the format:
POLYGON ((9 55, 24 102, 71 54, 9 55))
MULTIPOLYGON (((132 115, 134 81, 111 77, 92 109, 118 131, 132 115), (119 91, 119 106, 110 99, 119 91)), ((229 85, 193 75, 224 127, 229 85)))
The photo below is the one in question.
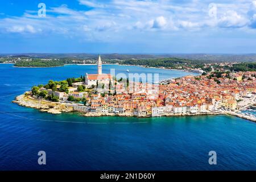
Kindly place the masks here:
MULTIPOLYGON (((190 73, 104 65, 117 72, 190 73)), ((226 116, 85 118, 11 103, 32 85, 95 73, 96 66, 13 68, 0 64, 0 170, 255 170, 256 123, 226 116), (47 165, 39 166, 38 151, 47 165), (217 152, 209 165, 208 152, 217 152)))

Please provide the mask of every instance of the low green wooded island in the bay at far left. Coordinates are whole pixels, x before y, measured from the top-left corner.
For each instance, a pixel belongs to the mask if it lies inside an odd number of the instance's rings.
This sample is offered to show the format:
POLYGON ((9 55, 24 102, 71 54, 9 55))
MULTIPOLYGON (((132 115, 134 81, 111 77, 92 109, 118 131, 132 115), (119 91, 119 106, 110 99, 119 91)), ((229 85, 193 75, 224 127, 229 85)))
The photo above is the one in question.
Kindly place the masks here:
POLYGON ((31 60, 17 61, 15 67, 60 67, 64 65, 64 61, 59 60, 31 60))

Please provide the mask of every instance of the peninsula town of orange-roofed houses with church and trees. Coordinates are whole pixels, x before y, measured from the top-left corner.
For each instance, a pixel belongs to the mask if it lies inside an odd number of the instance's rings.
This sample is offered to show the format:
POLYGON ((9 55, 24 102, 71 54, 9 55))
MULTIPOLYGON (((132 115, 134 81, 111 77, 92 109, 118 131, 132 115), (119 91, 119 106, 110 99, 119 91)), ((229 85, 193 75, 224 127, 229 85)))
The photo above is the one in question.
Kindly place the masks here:
POLYGON ((255 71, 220 68, 207 73, 199 68, 199 76, 170 78, 154 84, 102 73, 100 56, 97 66, 96 74, 33 86, 14 102, 48 113, 78 111, 88 117, 231 114, 256 121, 254 115, 241 113, 255 108, 255 71))

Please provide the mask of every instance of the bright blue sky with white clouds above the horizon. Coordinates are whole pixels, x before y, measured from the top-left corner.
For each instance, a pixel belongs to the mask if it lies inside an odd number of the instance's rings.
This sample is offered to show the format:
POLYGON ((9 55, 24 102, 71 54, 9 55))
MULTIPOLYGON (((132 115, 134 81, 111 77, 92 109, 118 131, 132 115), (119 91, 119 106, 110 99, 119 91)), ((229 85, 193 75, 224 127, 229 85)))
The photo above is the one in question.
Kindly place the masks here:
POLYGON ((32 52, 256 53, 256 1, 1 1, 0 53, 32 52))

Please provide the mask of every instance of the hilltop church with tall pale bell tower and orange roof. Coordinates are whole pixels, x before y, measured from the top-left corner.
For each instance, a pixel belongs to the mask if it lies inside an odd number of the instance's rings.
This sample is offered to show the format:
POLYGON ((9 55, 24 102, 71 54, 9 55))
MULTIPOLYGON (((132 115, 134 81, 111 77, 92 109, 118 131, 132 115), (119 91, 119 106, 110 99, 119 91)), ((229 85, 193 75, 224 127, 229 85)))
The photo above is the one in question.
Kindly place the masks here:
POLYGON ((102 62, 101 62, 101 56, 98 56, 98 61, 97 61, 97 65, 98 65, 98 74, 87 74, 85 75, 85 85, 87 85, 88 87, 94 85, 97 85, 97 81, 98 84, 105 84, 105 85, 109 85, 109 81, 112 82, 113 84, 113 77, 110 74, 105 74, 102 73, 102 62))

